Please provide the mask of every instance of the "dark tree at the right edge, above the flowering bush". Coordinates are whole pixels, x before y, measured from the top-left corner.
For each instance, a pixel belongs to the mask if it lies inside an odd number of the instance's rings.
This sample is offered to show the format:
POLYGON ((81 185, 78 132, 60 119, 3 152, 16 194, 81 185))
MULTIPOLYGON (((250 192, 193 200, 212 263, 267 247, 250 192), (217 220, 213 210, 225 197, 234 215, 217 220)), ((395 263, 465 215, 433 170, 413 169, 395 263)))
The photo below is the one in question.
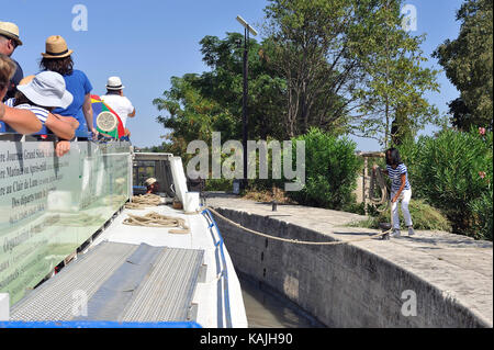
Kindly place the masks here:
POLYGON ((493 124, 493 1, 467 0, 457 12, 458 38, 447 39, 434 57, 460 91, 449 104, 451 122, 462 131, 493 124))

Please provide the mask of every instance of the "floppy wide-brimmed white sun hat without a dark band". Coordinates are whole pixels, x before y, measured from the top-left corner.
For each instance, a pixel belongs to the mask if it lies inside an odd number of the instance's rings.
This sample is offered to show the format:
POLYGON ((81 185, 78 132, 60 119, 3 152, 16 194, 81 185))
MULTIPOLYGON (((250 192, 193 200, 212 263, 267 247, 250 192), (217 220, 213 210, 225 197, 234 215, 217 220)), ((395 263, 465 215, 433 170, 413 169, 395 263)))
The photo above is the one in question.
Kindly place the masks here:
POLYGON ((41 106, 66 109, 74 101, 66 90, 64 77, 55 71, 42 71, 30 83, 18 86, 18 90, 41 106))

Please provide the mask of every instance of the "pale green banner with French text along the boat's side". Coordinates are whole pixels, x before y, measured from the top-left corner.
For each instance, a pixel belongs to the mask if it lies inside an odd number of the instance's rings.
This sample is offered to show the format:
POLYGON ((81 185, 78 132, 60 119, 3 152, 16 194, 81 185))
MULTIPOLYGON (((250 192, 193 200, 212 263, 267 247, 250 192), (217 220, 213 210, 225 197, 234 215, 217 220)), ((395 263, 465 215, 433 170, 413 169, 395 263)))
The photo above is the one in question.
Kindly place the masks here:
POLYGON ((128 143, 0 142, 0 293, 14 304, 131 196, 128 143))

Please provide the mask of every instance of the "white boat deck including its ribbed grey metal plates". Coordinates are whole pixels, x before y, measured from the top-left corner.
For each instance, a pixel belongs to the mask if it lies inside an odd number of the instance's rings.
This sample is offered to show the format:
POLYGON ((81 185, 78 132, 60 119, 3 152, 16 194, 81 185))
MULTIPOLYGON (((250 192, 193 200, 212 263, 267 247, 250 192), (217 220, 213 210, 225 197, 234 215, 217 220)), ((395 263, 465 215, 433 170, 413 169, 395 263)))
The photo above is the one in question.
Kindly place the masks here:
POLYGON ((242 290, 207 215, 167 205, 124 210, 87 252, 33 290, 11 320, 195 321, 247 327, 242 290), (181 217, 189 234, 124 225, 127 214, 181 217))

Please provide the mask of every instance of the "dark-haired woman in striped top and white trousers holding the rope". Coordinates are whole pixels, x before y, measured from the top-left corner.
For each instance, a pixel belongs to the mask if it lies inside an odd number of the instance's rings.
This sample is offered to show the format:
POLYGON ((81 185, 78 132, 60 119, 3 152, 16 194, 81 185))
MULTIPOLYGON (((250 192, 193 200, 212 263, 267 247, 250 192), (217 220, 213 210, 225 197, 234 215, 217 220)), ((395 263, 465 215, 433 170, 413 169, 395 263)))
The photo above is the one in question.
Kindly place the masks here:
MULTIPOLYGON (((375 171, 374 165, 373 170, 375 171)), ((396 148, 386 150, 386 170, 383 170, 391 179, 391 212, 393 215, 393 237, 400 237, 400 216, 397 210, 397 201, 402 201, 402 213, 405 218, 405 225, 408 227, 408 236, 415 234, 409 215, 408 204, 412 197, 412 187, 408 182, 408 171, 406 166, 400 158, 400 153, 396 148)))

